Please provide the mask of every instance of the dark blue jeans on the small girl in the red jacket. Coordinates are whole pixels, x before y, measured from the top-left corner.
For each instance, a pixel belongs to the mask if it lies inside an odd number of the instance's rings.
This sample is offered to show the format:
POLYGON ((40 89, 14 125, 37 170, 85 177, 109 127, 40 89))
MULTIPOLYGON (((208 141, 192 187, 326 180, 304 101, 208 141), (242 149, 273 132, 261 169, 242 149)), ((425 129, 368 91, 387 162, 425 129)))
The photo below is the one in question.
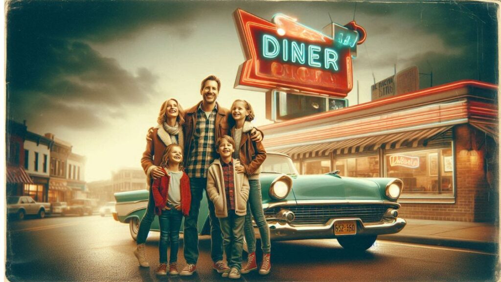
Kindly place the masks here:
POLYGON ((179 250, 179 229, 181 228, 183 214, 176 209, 163 210, 158 216, 160 223, 160 241, 158 250, 160 252, 160 263, 167 263, 167 244, 170 241, 169 263, 177 261, 177 251, 179 250), (170 239, 170 240, 169 240, 170 239))

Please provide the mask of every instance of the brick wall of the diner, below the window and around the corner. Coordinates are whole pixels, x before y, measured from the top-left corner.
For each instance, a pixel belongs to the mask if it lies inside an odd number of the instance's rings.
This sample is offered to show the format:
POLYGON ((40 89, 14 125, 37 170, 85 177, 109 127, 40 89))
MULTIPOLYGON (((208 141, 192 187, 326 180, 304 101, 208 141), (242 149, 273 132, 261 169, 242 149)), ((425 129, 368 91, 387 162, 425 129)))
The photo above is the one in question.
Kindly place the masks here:
POLYGON ((415 219, 494 221, 497 218, 498 191, 487 183, 484 159, 485 154, 491 154, 486 152, 486 148, 492 151, 494 147, 490 140, 487 144, 491 146, 486 146, 485 138, 485 133, 468 124, 455 126, 456 202, 454 204, 402 203, 399 215, 415 219))

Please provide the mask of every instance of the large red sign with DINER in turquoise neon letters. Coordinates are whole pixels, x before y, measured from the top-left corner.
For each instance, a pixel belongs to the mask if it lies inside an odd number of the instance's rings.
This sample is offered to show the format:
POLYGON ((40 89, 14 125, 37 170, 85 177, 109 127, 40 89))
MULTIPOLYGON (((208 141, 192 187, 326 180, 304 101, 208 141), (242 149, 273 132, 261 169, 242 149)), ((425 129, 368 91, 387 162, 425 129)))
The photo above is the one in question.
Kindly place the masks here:
POLYGON ((324 28, 331 36, 297 23, 283 14, 268 22, 243 10, 233 13, 246 61, 235 88, 346 97, 353 87, 352 58, 365 41, 355 22, 324 28))

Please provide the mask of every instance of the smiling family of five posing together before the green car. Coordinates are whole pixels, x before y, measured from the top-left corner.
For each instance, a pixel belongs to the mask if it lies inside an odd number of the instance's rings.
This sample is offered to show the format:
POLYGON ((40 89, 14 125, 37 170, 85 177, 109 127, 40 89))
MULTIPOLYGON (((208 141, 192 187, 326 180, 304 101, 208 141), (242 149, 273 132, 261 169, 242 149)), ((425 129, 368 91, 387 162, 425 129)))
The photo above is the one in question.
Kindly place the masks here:
POLYGON ((160 108, 158 125, 147 135, 141 165, 150 184, 146 213, 137 234, 134 255, 149 267, 146 237, 155 215, 160 223, 158 275, 192 275, 198 260, 198 213, 205 191, 208 199, 212 268, 222 277, 239 278, 258 268, 252 218, 259 227, 263 249, 260 274, 268 274, 270 230, 261 203, 259 174, 266 159, 263 134, 250 121, 252 106, 235 100, 228 110, 217 102, 220 80, 202 80, 202 101, 184 111, 174 98, 160 108), (184 217, 184 258, 178 271, 179 231, 184 217), (242 266, 243 237, 248 245, 242 266), (167 245, 170 256, 167 262, 167 245), (226 254, 226 262, 223 260, 226 254))

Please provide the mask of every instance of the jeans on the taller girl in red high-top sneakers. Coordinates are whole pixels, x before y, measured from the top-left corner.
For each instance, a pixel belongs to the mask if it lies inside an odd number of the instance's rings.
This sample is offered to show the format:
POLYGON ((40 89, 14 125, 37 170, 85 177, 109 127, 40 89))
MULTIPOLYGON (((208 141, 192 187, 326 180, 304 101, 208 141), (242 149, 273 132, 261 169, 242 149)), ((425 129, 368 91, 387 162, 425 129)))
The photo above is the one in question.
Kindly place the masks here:
POLYGON ((247 249, 250 252, 256 251, 256 235, 252 225, 252 217, 259 228, 261 235, 261 249, 264 253, 271 252, 270 228, 266 223, 265 213, 263 212, 263 196, 261 195, 261 182, 258 179, 249 179, 249 199, 247 201, 247 214, 245 215, 245 241, 247 249), (252 213, 252 215, 251 215, 252 213))

